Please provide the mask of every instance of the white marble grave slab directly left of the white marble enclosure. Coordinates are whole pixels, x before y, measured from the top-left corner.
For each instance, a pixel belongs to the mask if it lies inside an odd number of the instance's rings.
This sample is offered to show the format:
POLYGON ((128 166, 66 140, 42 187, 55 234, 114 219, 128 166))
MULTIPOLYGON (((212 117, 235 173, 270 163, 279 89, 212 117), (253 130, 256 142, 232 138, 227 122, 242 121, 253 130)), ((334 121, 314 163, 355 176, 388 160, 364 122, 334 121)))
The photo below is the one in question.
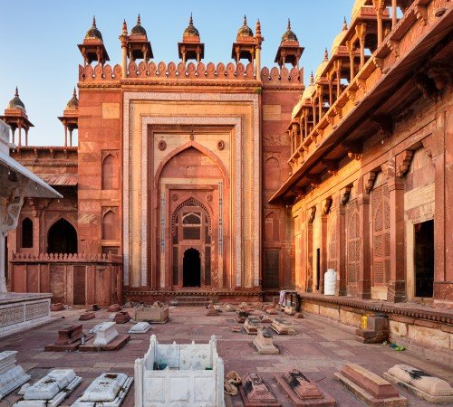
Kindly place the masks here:
POLYGON ((107 373, 94 379, 72 407, 120 406, 132 384, 126 374, 107 373))

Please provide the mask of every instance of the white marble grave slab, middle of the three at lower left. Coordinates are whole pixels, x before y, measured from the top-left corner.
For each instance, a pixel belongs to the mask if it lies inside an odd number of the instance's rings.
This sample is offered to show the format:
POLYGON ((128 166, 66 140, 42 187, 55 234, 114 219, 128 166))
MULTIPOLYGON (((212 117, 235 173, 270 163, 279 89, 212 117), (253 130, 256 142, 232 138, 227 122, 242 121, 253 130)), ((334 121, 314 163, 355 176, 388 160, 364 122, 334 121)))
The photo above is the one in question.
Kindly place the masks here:
POLYGON ((82 382, 72 369, 54 369, 32 386, 21 389, 24 400, 14 407, 57 406, 82 382))

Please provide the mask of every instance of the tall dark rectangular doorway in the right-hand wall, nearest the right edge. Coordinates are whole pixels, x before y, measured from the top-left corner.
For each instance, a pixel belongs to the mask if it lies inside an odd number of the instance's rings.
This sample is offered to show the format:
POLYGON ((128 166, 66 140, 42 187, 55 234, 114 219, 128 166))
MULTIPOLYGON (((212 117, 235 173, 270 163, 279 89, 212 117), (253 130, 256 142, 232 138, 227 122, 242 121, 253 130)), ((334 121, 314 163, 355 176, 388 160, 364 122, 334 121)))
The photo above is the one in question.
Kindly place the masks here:
POLYGON ((415 297, 432 297, 434 283, 434 221, 414 225, 415 297))

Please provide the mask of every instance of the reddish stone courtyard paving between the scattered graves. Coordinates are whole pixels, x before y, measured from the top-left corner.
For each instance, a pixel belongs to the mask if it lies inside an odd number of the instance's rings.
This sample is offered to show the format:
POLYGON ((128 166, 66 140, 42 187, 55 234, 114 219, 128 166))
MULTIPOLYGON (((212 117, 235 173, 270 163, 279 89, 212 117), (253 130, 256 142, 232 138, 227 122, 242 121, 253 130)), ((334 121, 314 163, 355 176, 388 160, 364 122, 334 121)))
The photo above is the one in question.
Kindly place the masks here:
MULTIPOLYGON (((207 343, 211 335, 217 336, 217 351, 225 361, 225 372, 236 370, 240 375, 257 372, 277 396, 282 406, 290 406, 289 400, 277 387, 274 374, 297 368, 330 393, 338 406, 363 406, 352 393, 333 380, 333 374, 342 364, 358 363, 375 374, 382 374, 394 364, 410 364, 429 374, 437 375, 449 383, 453 382, 453 369, 419 357, 410 351, 396 352, 386 345, 363 345, 355 341, 352 328, 329 319, 306 314, 304 319, 291 319, 297 329, 295 336, 278 336, 274 342, 280 348, 280 355, 258 355, 252 345, 255 336, 234 333, 230 327, 237 326, 235 313, 222 313, 218 317, 205 317, 205 308, 172 308, 170 321, 165 325, 153 325, 147 334, 133 334, 130 342, 115 352, 43 352, 43 346, 53 343, 57 331, 78 323, 83 309, 71 309, 53 312, 52 322, 33 328, 24 333, 0 339, 0 351, 17 350, 18 363, 32 375, 34 383, 50 369, 72 368, 82 376, 82 384, 72 396, 61 405, 71 405, 83 390, 99 374, 120 372, 133 376, 133 364, 137 357, 142 357, 149 347, 149 336, 156 334, 160 343, 189 343, 192 340, 207 343)), ((256 310, 256 315, 263 314, 256 310)), ((107 320, 106 310, 96 312, 96 318, 83 322, 83 329, 88 331, 94 325, 107 320)), ((271 316, 273 317, 273 316, 271 316)), ((82 323, 82 322, 81 322, 82 323)), ((126 333, 132 323, 118 325, 120 334, 126 333)), ((399 389, 412 406, 434 405, 423 402, 410 393, 399 389)), ((12 405, 18 399, 17 391, 10 394, 0 405, 12 405)), ((227 406, 242 406, 240 395, 226 396, 227 406)), ((123 403, 133 406, 133 387, 123 403)))

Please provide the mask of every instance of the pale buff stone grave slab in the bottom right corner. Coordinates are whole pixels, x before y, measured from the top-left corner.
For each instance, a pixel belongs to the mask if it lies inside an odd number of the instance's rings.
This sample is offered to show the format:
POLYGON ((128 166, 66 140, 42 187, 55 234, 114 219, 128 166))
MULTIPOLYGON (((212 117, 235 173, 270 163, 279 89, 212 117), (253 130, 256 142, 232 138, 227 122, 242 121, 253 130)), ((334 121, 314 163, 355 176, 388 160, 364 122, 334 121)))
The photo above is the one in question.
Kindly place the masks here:
POLYGON ((416 367, 395 364, 383 376, 389 382, 398 384, 429 402, 448 402, 453 405, 453 388, 445 380, 416 367))

